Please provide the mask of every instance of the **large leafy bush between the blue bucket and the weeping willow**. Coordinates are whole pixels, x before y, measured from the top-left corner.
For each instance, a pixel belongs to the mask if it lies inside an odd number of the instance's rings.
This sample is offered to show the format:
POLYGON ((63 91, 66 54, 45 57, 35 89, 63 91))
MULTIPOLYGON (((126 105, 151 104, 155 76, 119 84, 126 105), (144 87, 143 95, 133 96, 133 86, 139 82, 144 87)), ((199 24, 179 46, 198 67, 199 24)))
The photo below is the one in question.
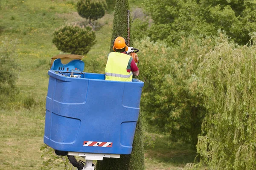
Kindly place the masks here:
POLYGON ((145 83, 141 111, 146 122, 154 126, 151 130, 195 147, 206 114, 195 70, 216 42, 189 37, 179 43, 171 48, 164 42, 136 41, 140 49, 139 79, 145 83))

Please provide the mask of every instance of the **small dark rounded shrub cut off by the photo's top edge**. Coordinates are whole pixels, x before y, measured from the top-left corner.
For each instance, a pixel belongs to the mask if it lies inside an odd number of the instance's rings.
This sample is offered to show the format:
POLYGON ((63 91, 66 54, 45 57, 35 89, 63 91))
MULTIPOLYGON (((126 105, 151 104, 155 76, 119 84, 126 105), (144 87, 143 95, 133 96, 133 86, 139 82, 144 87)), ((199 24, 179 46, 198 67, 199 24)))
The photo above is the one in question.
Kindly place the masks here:
POLYGON ((98 20, 105 15, 107 3, 105 0, 79 0, 76 4, 78 14, 90 20, 98 20))

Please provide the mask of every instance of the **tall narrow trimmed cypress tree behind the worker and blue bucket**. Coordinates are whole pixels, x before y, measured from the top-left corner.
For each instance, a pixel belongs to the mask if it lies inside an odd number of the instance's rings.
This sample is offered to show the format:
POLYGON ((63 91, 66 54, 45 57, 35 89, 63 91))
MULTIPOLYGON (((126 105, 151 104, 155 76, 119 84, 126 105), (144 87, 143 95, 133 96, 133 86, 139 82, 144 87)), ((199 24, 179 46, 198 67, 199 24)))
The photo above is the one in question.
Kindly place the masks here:
MULTIPOLYGON (((111 47, 116 37, 121 36, 128 40, 128 0, 116 0, 114 11, 113 30, 111 47)), ((131 26, 131 24, 130 24, 131 26)), ((130 46, 132 46, 130 37, 130 46)), ((121 155, 119 159, 104 158, 98 161, 96 170, 144 170, 144 149, 143 149, 143 129, 141 116, 139 116, 133 142, 133 149, 130 155, 121 155)))

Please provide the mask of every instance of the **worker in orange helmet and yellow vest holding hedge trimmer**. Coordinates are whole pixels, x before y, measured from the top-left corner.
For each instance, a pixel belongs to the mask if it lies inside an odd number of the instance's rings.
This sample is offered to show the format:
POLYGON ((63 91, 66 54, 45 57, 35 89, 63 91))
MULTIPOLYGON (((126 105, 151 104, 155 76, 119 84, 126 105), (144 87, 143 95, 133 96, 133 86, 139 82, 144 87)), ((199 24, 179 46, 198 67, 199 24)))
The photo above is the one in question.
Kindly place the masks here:
POLYGON ((105 67, 105 80, 132 82, 132 77, 139 75, 139 68, 129 55, 133 47, 128 47, 123 37, 117 37, 113 51, 108 54, 105 67), (128 54, 128 55, 127 55, 128 54))

